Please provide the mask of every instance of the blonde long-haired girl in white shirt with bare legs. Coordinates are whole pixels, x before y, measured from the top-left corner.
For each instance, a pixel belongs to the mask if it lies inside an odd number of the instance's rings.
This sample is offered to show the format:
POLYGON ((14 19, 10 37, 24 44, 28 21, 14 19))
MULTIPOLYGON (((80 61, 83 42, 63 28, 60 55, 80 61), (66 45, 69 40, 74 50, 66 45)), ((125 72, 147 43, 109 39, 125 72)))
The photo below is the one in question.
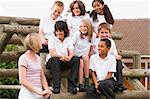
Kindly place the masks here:
POLYGON ((79 91, 82 92, 89 87, 89 54, 94 47, 96 35, 93 34, 93 27, 88 19, 81 21, 80 29, 73 37, 75 55, 80 57, 79 68, 79 91), (83 72, 84 71, 84 72, 83 72), (83 85, 85 75, 85 85, 83 85))

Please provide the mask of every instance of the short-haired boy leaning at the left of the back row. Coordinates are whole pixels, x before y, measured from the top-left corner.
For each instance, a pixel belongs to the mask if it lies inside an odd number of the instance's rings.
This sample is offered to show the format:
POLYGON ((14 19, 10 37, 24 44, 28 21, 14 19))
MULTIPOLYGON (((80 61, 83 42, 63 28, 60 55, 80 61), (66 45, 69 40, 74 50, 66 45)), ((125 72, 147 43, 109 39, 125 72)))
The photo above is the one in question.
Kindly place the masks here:
POLYGON ((50 17, 44 17, 40 20, 39 35, 42 40, 42 50, 40 52, 48 52, 48 38, 54 36, 54 25, 58 20, 62 20, 60 17, 64 9, 64 4, 61 1, 55 1, 51 9, 50 17))

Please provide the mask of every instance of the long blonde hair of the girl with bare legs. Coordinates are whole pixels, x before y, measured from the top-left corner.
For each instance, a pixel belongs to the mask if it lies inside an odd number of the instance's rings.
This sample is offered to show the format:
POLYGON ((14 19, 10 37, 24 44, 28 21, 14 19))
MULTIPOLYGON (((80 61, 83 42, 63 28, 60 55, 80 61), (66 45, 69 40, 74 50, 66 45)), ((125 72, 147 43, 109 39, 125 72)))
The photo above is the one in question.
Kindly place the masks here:
MULTIPOLYGON (((89 42, 91 42, 91 39, 92 39, 92 36, 93 36, 92 23, 88 19, 83 19, 81 22, 84 23, 87 26, 87 29, 88 29, 87 35, 89 37, 89 42)), ((81 35, 81 37, 82 37, 82 35, 81 35)))

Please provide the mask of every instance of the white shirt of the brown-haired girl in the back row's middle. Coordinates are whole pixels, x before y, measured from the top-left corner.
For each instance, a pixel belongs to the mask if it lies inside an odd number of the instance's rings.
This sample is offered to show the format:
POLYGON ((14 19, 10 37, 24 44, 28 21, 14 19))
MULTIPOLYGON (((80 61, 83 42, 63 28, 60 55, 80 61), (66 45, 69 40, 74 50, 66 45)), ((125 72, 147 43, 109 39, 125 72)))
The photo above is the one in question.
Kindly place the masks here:
POLYGON ((70 29, 71 37, 73 37, 73 35, 76 33, 76 31, 79 30, 81 20, 83 20, 83 19, 90 20, 89 14, 85 14, 84 16, 72 16, 72 13, 70 13, 67 16, 67 24, 70 29))

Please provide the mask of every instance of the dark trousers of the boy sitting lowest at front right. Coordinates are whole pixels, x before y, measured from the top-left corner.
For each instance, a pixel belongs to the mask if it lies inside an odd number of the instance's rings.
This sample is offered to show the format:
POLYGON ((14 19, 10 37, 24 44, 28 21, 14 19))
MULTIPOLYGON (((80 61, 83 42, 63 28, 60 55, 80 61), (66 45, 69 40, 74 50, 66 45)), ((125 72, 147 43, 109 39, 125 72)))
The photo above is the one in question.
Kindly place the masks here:
POLYGON ((116 81, 113 78, 101 81, 98 86, 100 94, 97 93, 95 85, 91 85, 86 91, 87 99, 101 99, 101 95, 104 95, 106 99, 116 99, 114 94, 115 84, 116 81))

